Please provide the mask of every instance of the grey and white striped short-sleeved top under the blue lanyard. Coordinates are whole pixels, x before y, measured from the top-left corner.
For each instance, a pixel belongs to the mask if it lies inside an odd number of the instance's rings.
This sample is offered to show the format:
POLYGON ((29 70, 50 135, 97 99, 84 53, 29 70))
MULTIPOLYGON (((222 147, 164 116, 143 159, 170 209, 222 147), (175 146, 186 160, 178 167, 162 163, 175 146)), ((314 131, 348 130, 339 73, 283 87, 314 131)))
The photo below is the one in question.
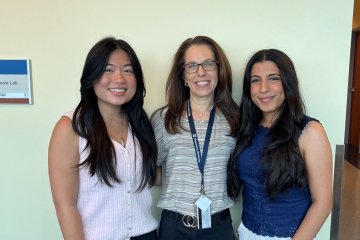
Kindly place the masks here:
MULTIPOLYGON (((166 109, 157 111, 152 118, 159 151, 157 165, 163 165, 162 194, 158 207, 185 215, 195 215, 194 203, 201 196, 201 173, 191 132, 189 130, 169 134, 164 126, 165 112, 166 109)), ((194 122, 202 152, 208 123, 196 120, 194 122)), ((186 116, 182 117, 181 123, 190 129, 186 116)), ((226 167, 235 147, 235 139, 228 136, 229 132, 227 120, 217 111, 204 168, 204 190, 212 201, 212 214, 233 205, 226 190, 226 167)))

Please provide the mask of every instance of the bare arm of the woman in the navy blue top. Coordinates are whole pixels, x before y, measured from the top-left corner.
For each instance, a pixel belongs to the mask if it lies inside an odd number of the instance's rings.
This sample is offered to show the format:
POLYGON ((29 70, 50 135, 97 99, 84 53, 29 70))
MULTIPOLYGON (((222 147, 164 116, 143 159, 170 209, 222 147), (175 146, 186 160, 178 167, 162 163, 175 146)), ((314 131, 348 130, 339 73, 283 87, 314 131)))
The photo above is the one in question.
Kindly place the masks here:
POLYGON ((332 151, 324 128, 311 121, 299 146, 305 159, 312 204, 293 239, 314 239, 332 210, 332 151))

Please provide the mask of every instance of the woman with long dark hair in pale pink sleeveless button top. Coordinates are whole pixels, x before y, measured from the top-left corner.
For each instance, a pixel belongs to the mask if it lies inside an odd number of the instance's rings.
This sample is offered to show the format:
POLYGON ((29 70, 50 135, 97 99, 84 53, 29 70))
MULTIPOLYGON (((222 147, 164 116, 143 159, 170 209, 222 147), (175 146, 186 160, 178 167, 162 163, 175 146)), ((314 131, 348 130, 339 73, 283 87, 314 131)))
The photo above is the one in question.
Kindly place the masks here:
POLYGON ((64 239, 156 240, 149 188, 157 146, 134 50, 123 40, 100 40, 87 55, 80 83, 80 103, 58 121, 49 145, 64 239))

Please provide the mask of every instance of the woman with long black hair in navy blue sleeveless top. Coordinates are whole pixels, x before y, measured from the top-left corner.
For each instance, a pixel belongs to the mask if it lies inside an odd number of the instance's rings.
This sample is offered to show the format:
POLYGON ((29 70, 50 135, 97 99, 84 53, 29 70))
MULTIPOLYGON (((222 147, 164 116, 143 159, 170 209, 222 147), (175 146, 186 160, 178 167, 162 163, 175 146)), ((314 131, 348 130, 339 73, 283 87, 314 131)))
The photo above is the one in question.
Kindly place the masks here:
POLYGON ((305 115, 285 53, 250 58, 240 124, 228 165, 229 196, 243 188, 240 239, 314 239, 332 208, 332 153, 322 125, 305 115))

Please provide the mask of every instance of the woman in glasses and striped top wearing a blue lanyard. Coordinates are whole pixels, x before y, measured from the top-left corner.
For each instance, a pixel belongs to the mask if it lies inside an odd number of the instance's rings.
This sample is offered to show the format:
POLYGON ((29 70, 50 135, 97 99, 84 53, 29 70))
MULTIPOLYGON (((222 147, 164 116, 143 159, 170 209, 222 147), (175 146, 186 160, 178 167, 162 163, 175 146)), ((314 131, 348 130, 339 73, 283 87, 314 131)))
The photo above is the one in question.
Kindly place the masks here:
POLYGON ((164 166, 161 240, 233 240, 226 166, 237 129, 230 64, 211 38, 186 39, 166 83, 167 105, 152 116, 164 166))

